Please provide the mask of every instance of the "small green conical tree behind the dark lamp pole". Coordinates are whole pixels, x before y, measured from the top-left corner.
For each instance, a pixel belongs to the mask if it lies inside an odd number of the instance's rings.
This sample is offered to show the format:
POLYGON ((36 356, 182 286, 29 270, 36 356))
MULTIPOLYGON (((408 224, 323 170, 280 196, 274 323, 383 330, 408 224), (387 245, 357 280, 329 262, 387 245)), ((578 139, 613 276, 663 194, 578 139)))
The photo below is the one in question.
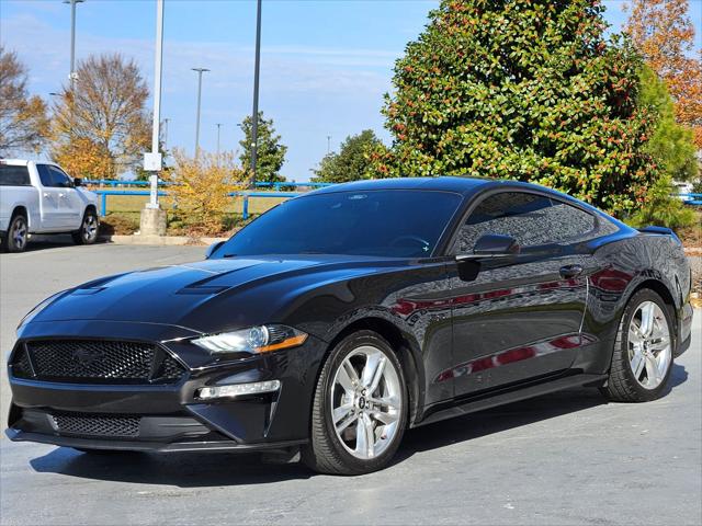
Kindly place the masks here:
MULTIPOLYGON (((241 145, 241 156, 239 160, 241 165, 247 170, 251 165, 251 145, 253 144, 253 134, 251 126, 251 117, 246 117, 241 123, 244 132, 244 140, 241 145)), ((257 149, 257 181, 275 183, 285 181, 280 174, 281 168, 285 163, 285 153, 287 147, 281 142, 281 136, 275 133, 273 119, 263 118, 263 112, 259 112, 259 129, 258 129, 258 149, 257 149)))

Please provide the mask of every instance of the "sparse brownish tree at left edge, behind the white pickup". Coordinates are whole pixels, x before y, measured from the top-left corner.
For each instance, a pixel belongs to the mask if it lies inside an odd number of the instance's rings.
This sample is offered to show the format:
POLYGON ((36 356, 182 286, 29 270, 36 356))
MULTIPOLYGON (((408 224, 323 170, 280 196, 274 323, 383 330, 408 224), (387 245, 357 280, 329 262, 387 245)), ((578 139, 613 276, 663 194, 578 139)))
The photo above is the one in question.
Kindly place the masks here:
POLYGON ((0 46, 0 157, 38 152, 48 135, 46 104, 29 95, 26 80, 26 67, 16 53, 0 46))

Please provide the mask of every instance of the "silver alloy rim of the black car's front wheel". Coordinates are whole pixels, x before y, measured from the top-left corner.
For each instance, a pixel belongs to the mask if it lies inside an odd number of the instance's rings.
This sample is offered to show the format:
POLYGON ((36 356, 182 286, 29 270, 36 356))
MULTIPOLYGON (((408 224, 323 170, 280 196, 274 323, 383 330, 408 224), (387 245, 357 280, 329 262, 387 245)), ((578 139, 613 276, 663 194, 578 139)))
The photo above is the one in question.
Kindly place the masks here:
POLYGON ((377 347, 353 350, 331 384, 331 421, 344 449, 359 459, 375 458, 393 443, 403 411, 399 374, 377 347))

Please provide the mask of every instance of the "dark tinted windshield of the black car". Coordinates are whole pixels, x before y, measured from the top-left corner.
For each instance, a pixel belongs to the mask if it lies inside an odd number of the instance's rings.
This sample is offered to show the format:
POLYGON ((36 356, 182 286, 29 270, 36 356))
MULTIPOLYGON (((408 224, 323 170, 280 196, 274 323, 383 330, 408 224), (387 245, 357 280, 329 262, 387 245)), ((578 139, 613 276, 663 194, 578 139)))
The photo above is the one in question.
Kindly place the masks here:
POLYGON ((227 241, 217 256, 429 256, 461 203, 430 191, 338 192, 285 202, 227 241))

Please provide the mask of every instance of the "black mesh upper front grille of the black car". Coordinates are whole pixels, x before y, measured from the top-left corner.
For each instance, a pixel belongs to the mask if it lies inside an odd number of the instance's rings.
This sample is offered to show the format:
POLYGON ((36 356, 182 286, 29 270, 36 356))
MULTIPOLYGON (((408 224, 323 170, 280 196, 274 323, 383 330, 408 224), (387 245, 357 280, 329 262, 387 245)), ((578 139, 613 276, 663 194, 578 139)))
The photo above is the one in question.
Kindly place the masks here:
POLYGON ((19 378, 73 384, 172 384, 185 373, 158 345, 98 340, 26 342, 12 370, 19 378))

